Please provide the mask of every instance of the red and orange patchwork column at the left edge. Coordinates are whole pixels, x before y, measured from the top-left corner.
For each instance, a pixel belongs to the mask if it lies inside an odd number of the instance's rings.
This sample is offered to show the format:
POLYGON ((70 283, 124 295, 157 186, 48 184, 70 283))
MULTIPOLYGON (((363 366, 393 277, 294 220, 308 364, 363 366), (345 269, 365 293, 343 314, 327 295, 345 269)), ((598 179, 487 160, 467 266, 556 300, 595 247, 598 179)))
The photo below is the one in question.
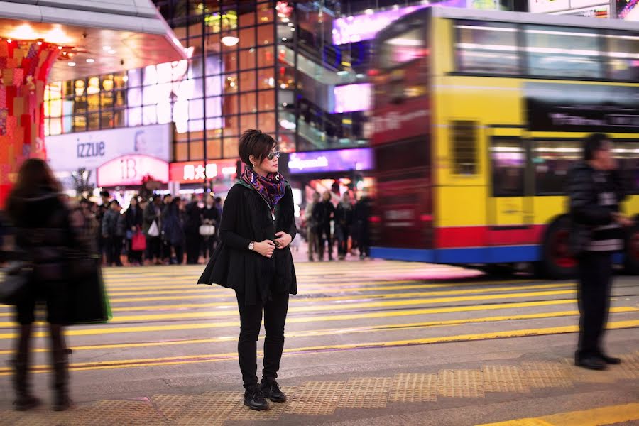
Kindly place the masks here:
POLYGON ((0 39, 0 209, 27 158, 46 158, 44 89, 58 45, 0 39))

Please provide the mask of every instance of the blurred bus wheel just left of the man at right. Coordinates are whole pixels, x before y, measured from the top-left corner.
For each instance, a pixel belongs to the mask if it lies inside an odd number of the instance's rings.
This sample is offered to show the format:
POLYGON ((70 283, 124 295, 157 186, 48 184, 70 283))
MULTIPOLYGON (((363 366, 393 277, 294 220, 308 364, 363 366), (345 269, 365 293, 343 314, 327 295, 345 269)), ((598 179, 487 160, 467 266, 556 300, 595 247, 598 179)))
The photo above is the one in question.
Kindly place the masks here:
POLYGON ((570 219, 564 214, 546 229, 542 243, 541 268, 547 278, 562 280, 577 274, 577 261, 569 251, 570 219))

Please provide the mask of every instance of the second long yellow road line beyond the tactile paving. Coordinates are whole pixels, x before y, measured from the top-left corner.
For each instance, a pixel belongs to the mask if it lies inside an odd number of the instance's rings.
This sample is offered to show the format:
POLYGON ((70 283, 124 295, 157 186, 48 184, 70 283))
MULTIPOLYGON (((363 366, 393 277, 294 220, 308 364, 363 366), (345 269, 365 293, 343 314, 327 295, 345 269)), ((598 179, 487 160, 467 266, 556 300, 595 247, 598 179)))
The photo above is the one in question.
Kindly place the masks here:
MULTIPOLYGON (((611 313, 625 313, 636 312, 639 309, 633 307, 613 307, 611 313)), ((525 314, 525 315, 501 315, 497 317, 482 317, 482 318, 466 318, 460 320, 443 320, 443 321, 427 321, 427 322, 410 322, 408 324, 378 324, 366 327, 350 327, 341 329, 318 329, 318 330, 300 330, 295 332, 286 332, 286 338, 293 337, 317 337, 327 336, 330 334, 358 334, 367 332, 386 332, 386 331, 400 331, 405 329, 420 329, 425 327, 444 327, 455 326, 464 324, 477 324, 482 322, 500 322, 500 321, 514 321, 514 320, 534 320, 538 318, 558 318, 558 317, 570 317, 573 315, 579 315, 579 311, 562 311, 562 312, 542 312, 537 314, 525 314)), ((239 324, 237 322, 236 324, 239 324)), ((263 335, 262 335, 263 337, 263 335)), ((183 344, 202 344, 202 343, 218 343, 229 342, 237 340, 237 336, 225 336, 214 337, 209 339, 184 339, 184 340, 170 340, 162 342, 141 342, 141 343, 117 343, 117 344, 97 344, 92 346, 74 346, 71 349, 74 351, 86 351, 95 349, 121 349, 121 348, 140 348, 148 346, 174 346, 183 344)), ((48 352, 48 349, 38 348, 34 349, 35 352, 48 352)), ((13 354, 13 350, 6 349, 0 350, 0 355, 13 354)))

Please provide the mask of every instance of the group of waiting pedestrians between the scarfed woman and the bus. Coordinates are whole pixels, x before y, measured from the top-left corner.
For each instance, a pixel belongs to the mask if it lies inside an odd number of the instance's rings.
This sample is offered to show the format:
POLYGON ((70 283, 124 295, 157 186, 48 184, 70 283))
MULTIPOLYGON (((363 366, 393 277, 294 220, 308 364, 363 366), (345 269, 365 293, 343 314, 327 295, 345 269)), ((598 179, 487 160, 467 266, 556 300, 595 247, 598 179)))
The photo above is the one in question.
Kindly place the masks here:
POLYGON ((371 199, 363 195, 357 202, 351 200, 349 192, 344 192, 337 207, 333 204, 333 194, 326 191, 313 193, 312 202, 305 209, 308 260, 333 260, 333 243, 337 240, 337 258, 343 261, 349 253, 359 251, 359 258, 370 256, 368 220, 371 216, 371 199))

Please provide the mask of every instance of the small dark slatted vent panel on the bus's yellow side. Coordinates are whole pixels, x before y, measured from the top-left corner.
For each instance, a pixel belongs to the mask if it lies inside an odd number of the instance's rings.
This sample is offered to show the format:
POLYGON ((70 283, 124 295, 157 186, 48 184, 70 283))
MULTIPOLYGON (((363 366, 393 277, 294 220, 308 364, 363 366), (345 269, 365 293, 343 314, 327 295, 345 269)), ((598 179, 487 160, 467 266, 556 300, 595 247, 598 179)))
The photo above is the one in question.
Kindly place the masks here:
POLYGON ((452 170, 455 175, 476 175, 477 171, 477 123, 452 121, 452 170))

